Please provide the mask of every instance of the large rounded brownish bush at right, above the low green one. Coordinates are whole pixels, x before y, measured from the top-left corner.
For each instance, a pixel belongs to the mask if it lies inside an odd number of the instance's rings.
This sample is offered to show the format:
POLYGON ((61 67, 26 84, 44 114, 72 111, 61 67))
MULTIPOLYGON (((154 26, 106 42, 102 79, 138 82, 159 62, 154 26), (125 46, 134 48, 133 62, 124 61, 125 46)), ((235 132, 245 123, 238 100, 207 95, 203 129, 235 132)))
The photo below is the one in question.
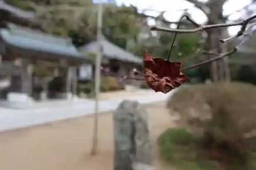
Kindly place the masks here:
POLYGON ((180 88, 167 102, 180 124, 203 139, 207 157, 223 164, 247 164, 256 151, 256 87, 244 83, 212 83, 180 88))

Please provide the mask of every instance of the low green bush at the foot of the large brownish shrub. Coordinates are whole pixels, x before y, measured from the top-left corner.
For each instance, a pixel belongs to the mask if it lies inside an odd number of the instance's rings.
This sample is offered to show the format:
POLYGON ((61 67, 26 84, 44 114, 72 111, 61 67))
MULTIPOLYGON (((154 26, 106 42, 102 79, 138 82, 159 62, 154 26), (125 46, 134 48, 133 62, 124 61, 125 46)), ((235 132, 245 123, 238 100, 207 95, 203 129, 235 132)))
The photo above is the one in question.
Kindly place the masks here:
POLYGON ((220 170, 200 155, 200 138, 184 128, 170 128, 158 140, 160 158, 175 169, 220 170))

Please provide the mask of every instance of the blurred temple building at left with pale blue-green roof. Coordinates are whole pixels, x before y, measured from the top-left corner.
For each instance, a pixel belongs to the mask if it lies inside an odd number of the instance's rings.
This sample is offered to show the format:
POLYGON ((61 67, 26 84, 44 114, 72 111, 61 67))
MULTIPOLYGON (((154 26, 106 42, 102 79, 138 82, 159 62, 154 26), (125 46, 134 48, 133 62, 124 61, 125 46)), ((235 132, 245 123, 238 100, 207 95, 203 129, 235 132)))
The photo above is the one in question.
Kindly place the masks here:
POLYGON ((0 84, 7 85, 1 89, 1 101, 11 104, 69 99, 76 95, 77 68, 88 61, 72 40, 43 33, 34 21, 33 12, 22 11, 4 1, 0 1, 0 13, 4 16, 0 21, 0 84), (52 81, 55 85, 49 87, 52 81))

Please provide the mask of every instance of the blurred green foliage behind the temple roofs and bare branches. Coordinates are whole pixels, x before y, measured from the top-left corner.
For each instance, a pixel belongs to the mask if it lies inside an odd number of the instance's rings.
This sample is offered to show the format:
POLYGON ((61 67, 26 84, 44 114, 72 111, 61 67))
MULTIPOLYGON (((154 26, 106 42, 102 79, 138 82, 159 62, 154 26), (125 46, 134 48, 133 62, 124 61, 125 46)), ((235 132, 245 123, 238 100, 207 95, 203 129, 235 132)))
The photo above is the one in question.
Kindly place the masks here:
MULTIPOLYGON (((73 43, 78 47, 96 38, 97 6, 91 0, 9 0, 7 2, 22 9, 34 10, 46 32, 72 37, 73 43)), ((164 18, 163 14, 157 18, 164 18)), ((174 34, 158 33, 155 40, 149 37, 143 38, 145 28, 142 21, 146 19, 145 16, 139 15, 136 7, 106 4, 104 5, 102 32, 111 42, 137 56, 143 56, 143 49, 146 48, 154 57, 166 59, 174 34)), ((183 22, 185 22, 186 29, 195 28, 187 21, 183 22)), ((169 26, 161 20, 158 20, 158 25, 169 26)), ((202 33, 178 35, 171 60, 182 61, 184 66, 205 60, 207 56, 198 54, 205 48, 205 38, 202 37, 205 37, 202 33)), ((229 44, 229 46, 232 45, 229 44)), ((236 55, 239 56, 239 54, 236 55)), ((230 60, 236 58, 236 55, 233 55, 230 60)), ((255 84, 254 65, 230 64, 232 79, 255 84)), ((209 66, 187 70, 185 74, 191 77, 188 82, 197 83, 210 79, 209 66)))

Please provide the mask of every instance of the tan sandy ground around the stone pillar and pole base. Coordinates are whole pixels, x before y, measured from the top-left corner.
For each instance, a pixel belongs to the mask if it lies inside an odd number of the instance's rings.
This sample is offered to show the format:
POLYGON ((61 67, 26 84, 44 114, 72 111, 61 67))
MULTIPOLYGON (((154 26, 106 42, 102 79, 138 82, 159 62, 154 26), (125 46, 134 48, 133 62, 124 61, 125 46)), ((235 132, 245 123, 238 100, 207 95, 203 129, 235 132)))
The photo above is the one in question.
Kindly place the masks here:
MULTIPOLYGON (((174 126, 164 103, 147 105, 154 143, 166 128, 174 126)), ((3 170, 112 170, 112 113, 99 117, 99 143, 90 156, 93 117, 84 116, 58 123, 0 133, 0 169, 3 170)), ((157 159, 156 169, 165 170, 157 159)))

